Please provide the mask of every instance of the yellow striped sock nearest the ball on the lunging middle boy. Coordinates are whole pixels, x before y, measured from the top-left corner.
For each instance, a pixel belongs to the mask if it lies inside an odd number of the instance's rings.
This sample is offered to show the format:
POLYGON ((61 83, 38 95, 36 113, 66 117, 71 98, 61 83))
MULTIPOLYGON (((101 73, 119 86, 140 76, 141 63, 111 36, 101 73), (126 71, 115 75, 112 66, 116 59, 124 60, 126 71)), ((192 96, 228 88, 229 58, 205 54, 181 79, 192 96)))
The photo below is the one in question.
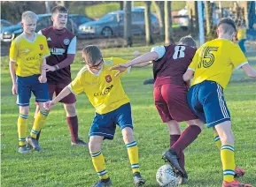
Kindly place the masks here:
POLYGON ((131 168, 133 174, 136 172, 140 172, 140 165, 139 165, 139 150, 136 141, 128 143, 126 145, 128 150, 128 157, 131 164, 131 168))

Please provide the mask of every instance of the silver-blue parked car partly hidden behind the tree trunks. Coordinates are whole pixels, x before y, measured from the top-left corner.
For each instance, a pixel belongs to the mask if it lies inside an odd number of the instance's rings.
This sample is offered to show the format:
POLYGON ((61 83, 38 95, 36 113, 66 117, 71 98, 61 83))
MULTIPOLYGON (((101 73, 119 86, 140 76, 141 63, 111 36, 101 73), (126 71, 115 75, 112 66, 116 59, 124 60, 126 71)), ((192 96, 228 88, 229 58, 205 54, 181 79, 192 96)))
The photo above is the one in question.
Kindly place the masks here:
MULTIPOLYGON (((131 11, 132 34, 145 33, 144 8, 136 7, 131 11)), ((152 32, 159 33, 159 19, 151 13, 152 32)), ((97 21, 90 21, 79 26, 78 38, 112 36, 124 34, 124 11, 112 11, 97 21)))

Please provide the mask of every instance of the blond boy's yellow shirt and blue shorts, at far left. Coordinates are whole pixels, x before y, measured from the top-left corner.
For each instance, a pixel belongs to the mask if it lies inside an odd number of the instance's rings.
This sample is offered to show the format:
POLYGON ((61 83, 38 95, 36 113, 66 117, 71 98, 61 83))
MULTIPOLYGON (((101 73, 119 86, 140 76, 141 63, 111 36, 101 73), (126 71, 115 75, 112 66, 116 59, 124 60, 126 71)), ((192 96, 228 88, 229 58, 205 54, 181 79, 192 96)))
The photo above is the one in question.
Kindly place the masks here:
POLYGON ((35 34, 35 41, 27 41, 24 34, 20 34, 12 41, 10 61, 16 63, 16 82, 18 86, 17 104, 28 106, 31 92, 35 94, 35 101, 49 101, 47 83, 40 83, 43 58, 50 56, 46 38, 35 34))

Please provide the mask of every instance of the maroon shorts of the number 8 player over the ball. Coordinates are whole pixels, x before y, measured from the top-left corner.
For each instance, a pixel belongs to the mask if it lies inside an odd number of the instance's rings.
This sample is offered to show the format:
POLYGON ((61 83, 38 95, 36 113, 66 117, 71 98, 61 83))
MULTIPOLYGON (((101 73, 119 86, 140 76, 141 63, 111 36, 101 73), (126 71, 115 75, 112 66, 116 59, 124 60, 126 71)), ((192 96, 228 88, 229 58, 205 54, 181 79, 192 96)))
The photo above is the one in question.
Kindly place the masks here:
POLYGON ((154 88, 154 100, 159 115, 164 123, 171 120, 184 122, 198 119, 187 102, 187 88, 185 86, 162 85, 154 88))

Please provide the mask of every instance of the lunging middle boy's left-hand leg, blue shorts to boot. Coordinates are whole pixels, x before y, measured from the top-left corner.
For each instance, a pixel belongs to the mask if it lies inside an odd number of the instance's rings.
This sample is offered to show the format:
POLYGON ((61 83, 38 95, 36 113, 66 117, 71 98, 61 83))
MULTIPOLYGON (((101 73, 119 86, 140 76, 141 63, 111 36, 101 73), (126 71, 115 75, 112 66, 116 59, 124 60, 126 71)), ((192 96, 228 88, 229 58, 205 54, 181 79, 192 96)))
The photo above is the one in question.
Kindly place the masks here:
POLYGON ((93 166, 99 177, 99 181, 92 187, 111 186, 112 182, 105 168, 105 158, 101 153, 101 142, 103 139, 113 139, 115 133, 115 123, 112 115, 114 111, 104 115, 96 113, 89 129, 89 153, 93 166))

